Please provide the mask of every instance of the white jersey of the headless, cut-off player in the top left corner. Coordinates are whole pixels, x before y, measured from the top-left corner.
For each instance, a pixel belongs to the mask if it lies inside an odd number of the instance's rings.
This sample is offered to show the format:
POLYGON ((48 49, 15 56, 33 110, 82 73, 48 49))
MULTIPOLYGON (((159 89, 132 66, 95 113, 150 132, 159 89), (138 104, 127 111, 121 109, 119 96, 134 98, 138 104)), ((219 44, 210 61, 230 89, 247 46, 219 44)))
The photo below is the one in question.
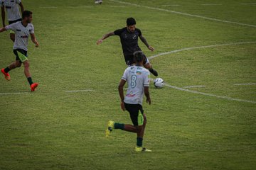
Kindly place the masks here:
POLYGON ((0 6, 6 8, 8 21, 21 19, 21 13, 18 11, 18 4, 21 4, 21 0, 0 0, 0 6))

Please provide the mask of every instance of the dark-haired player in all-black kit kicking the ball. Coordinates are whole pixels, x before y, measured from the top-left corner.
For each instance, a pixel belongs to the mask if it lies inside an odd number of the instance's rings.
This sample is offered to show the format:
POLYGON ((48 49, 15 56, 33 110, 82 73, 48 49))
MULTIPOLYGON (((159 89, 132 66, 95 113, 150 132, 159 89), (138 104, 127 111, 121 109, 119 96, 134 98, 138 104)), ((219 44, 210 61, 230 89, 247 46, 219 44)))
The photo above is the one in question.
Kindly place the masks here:
MULTIPOLYGON (((142 40, 142 42, 144 42, 149 50, 154 51, 154 47, 151 47, 148 42, 146 42, 146 39, 142 36, 142 31, 136 28, 136 21, 134 18, 127 18, 127 27, 103 35, 100 40, 97 40, 97 45, 100 45, 103 40, 112 35, 119 35, 122 44, 124 60, 128 66, 135 63, 134 52, 142 51, 138 45, 138 38, 142 40)), ((144 67, 146 69, 149 69, 149 72, 151 72, 155 77, 158 76, 158 73, 155 69, 152 68, 152 65, 150 64, 149 60, 146 58, 145 55, 143 64, 144 67)))

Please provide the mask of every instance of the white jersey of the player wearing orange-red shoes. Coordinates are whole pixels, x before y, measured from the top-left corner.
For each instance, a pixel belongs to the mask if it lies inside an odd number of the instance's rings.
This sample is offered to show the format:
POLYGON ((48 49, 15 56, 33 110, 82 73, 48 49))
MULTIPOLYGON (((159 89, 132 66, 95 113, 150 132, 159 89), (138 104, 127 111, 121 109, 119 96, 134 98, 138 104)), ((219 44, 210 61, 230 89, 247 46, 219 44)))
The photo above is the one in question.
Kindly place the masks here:
POLYGON ((29 34, 34 33, 34 28, 32 23, 28 23, 28 26, 23 26, 21 21, 12 23, 5 27, 6 30, 13 30, 15 32, 14 50, 23 49, 28 51, 28 38, 29 34))

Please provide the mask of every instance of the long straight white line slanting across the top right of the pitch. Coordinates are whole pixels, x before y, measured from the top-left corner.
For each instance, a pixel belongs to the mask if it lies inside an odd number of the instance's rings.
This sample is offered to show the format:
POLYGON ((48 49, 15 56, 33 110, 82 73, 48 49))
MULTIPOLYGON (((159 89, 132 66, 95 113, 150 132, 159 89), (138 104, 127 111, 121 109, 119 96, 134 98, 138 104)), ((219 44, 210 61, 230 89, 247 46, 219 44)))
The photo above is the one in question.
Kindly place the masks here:
POLYGON ((149 8, 149 9, 154 9, 154 10, 158 10, 158 11, 165 11, 165 12, 169 12, 169 13, 176 13, 179 15, 183 15, 183 16, 191 16, 191 17, 196 17, 196 18, 203 18, 206 20, 210 20, 210 21, 218 21, 218 22, 222 22, 222 23, 233 23, 233 24, 237 24, 240 26, 250 26, 250 27, 255 27, 255 25, 251 25, 251 24, 246 24, 246 23, 238 23, 238 22, 233 22, 233 21, 225 21, 225 20, 220 20, 220 19, 216 19, 216 18, 209 18, 206 16, 198 16, 198 15, 193 15, 193 14, 189 14, 189 13, 182 13, 182 12, 178 12, 178 11, 171 11, 168 9, 163 9, 163 8, 154 8, 154 7, 150 7, 150 6, 142 6, 142 5, 138 5, 138 4, 132 4, 129 2, 124 2, 124 1, 117 1, 117 0, 110 0, 110 1, 114 1, 120 4, 127 4, 127 5, 131 5, 131 6, 138 6, 138 7, 143 7, 143 8, 149 8))

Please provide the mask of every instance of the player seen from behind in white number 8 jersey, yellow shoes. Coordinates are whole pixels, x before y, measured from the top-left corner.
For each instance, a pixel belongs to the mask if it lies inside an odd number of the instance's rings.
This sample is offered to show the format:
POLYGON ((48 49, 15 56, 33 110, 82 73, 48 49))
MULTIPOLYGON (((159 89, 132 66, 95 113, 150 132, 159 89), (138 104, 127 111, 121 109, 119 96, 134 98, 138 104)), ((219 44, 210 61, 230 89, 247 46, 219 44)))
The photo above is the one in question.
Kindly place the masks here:
POLYGON ((142 140, 144 137, 144 130, 146 128, 146 115, 142 108, 143 96, 146 96, 146 103, 151 104, 149 96, 149 70, 143 67, 144 54, 141 51, 134 52, 136 65, 128 67, 124 71, 124 75, 119 83, 118 90, 121 98, 122 111, 127 110, 133 125, 124 123, 114 123, 110 120, 107 123, 106 136, 114 129, 121 129, 127 132, 137 133, 137 146, 136 152, 151 152, 151 150, 142 147, 142 140), (128 90, 124 97, 124 84, 127 82, 128 90))

